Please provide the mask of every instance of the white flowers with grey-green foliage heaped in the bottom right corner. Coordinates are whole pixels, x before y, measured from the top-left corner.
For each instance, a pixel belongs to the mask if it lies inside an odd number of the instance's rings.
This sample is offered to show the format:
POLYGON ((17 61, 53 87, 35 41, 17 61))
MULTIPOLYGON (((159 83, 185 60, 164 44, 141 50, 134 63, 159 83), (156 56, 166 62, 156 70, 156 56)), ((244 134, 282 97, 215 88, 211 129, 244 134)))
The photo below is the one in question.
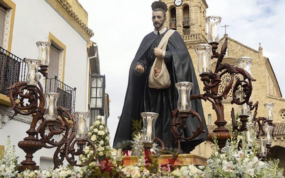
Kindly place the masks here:
POLYGON ((278 167, 278 160, 274 161, 260 161, 257 158, 257 146, 252 149, 247 147, 245 138, 242 137, 243 148, 238 150, 237 140, 231 138, 226 143, 226 146, 219 153, 219 148, 217 146, 217 140, 214 138, 215 142, 215 152, 207 160, 207 165, 201 173, 201 177, 258 177, 258 178, 284 178, 283 169, 278 167))

